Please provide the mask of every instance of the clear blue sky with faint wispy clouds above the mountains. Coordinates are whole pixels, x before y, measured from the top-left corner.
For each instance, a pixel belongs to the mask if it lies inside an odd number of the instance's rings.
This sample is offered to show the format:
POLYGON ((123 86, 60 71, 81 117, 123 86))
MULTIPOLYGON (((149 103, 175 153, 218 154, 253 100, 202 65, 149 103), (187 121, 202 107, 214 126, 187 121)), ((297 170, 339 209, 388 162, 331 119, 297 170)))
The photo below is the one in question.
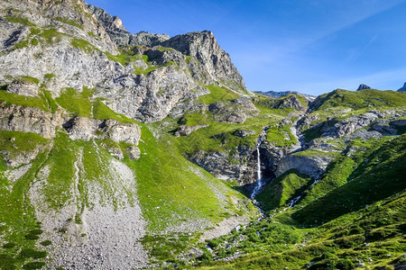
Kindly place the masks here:
POLYGON ((128 31, 213 31, 252 91, 406 82, 406 0, 88 0, 128 31))

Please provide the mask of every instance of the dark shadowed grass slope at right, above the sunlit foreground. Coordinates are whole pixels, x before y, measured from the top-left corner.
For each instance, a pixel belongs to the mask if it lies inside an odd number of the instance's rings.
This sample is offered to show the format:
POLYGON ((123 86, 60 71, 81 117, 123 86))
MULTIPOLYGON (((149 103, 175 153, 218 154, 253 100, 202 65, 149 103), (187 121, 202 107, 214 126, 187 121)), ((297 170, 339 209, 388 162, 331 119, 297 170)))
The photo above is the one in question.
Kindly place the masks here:
POLYGON ((367 157, 347 183, 292 215, 305 225, 318 225, 356 211, 406 188, 406 135, 392 139, 367 157))

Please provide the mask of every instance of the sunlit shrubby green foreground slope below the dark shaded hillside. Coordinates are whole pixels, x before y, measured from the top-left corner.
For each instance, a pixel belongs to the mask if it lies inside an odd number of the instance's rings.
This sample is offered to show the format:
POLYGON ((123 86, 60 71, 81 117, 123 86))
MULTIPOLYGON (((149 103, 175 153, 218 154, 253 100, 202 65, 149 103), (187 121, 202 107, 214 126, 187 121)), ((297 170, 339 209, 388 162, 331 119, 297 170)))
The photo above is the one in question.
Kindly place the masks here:
POLYGON ((226 257, 229 246, 241 257, 229 263, 201 257, 200 268, 393 269, 393 266, 404 266, 405 207, 406 193, 401 192, 317 229, 283 225, 278 217, 263 220, 218 239, 221 244, 217 247, 211 244, 217 258, 226 257))

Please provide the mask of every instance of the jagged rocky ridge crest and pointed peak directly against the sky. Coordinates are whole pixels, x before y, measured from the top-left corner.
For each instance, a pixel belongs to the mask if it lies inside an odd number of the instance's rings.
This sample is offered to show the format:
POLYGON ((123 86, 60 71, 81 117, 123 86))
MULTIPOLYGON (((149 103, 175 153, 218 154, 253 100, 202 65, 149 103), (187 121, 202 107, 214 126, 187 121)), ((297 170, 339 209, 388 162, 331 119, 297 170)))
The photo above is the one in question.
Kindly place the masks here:
POLYGON ((125 30, 121 20, 112 17, 101 9, 91 4, 89 11, 97 16, 108 32, 110 38, 120 46, 162 46, 180 51, 183 55, 196 58, 202 65, 200 70, 190 68, 193 77, 205 85, 222 84, 240 94, 248 94, 243 77, 238 73, 231 62, 230 56, 218 45, 211 31, 196 31, 170 38, 165 34, 152 34, 141 31, 132 34, 125 30), (203 70, 201 70, 203 69, 203 70), (207 73, 208 76, 202 76, 207 73))

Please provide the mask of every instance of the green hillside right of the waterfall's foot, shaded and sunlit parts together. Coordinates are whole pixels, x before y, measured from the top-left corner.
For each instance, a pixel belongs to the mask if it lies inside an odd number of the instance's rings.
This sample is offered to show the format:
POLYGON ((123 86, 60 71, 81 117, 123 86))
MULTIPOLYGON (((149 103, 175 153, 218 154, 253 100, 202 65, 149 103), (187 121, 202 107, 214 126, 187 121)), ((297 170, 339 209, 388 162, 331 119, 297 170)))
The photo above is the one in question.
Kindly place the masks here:
POLYGON ((212 251, 201 246, 208 251, 198 265, 203 269, 406 265, 406 135, 351 143, 352 154, 337 157, 315 184, 293 170, 274 179, 257 197, 272 218, 208 241, 212 251), (300 201, 289 208, 299 195, 300 201))

